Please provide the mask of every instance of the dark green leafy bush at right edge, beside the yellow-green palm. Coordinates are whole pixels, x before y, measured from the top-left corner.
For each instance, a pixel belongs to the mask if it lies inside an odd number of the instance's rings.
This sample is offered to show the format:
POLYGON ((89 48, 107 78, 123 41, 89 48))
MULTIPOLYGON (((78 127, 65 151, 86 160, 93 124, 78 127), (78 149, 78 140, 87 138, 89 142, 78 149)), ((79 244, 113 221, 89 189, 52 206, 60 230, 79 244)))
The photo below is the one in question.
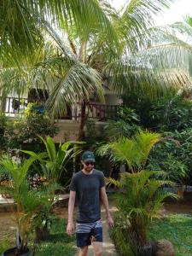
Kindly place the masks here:
POLYGON ((192 176, 192 129, 164 132, 163 139, 152 149, 148 168, 166 172, 176 183, 189 183, 192 176))

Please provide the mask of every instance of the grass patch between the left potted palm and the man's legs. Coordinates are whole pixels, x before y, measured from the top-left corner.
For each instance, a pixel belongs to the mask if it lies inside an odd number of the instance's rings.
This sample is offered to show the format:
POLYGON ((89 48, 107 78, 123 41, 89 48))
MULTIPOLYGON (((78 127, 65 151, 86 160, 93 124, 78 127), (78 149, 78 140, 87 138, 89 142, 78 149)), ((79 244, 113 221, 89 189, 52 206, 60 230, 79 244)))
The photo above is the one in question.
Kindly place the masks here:
POLYGON ((41 242, 35 255, 74 256, 76 252, 74 236, 67 236, 66 227, 66 219, 57 219, 51 227, 49 239, 47 241, 41 242))

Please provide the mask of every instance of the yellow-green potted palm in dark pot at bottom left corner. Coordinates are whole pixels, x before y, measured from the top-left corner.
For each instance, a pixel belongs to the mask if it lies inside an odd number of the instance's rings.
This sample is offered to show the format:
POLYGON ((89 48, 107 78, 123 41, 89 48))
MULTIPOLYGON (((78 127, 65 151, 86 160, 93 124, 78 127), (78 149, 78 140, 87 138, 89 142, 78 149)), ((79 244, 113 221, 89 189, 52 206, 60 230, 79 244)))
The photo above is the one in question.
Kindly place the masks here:
POLYGON ((32 190, 26 180, 29 167, 34 159, 15 162, 10 157, 0 160, 0 172, 9 173, 9 185, 1 185, 0 191, 9 193, 15 201, 12 207, 16 224, 16 247, 10 248, 3 256, 27 256, 30 255, 28 237, 33 229, 33 218, 39 207, 46 203, 47 198, 40 191, 32 190))

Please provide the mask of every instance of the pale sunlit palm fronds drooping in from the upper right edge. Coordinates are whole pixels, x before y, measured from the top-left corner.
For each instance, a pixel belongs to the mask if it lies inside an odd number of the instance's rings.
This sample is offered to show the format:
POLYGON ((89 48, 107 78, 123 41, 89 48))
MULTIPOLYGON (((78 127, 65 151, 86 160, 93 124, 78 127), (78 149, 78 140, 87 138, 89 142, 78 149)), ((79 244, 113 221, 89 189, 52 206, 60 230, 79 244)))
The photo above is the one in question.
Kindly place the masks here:
POLYGON ((137 50, 108 63, 105 73, 119 94, 136 91, 156 98, 191 90, 191 19, 164 27, 150 27, 137 50), (179 37, 183 35, 183 38, 179 37), (184 39, 188 36, 188 40, 184 39))

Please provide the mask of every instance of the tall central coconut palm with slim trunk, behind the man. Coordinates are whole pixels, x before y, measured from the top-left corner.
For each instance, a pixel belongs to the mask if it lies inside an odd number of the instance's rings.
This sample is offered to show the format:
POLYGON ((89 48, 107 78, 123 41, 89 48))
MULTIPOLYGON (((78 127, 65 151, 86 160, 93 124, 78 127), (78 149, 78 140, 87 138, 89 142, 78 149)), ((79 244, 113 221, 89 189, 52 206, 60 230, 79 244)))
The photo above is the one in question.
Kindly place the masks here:
MULTIPOLYGON (((141 45, 145 44, 144 38, 149 35, 148 27, 152 25, 152 14, 159 13, 168 3, 169 0, 131 0, 127 3, 123 15, 117 13, 105 1, 92 0, 82 3, 73 0, 67 3, 63 0, 55 3, 42 0, 34 3, 36 7, 37 4, 41 6, 32 11, 32 17, 37 18, 39 14, 34 12, 43 10, 38 22, 46 35, 49 34, 55 50, 48 55, 45 55, 47 51, 44 51, 44 58, 37 61, 35 68, 30 68, 29 77, 36 82, 32 86, 38 87, 41 84, 49 89, 48 105, 52 113, 62 113, 67 103, 81 103, 79 138, 84 137, 86 102, 94 92, 103 100, 102 67, 117 61, 118 56, 124 58, 125 53, 137 52, 141 45), (49 19, 46 19, 47 17, 49 19), (49 24, 50 20, 53 20, 52 17, 56 17, 56 21, 49 24), (53 25, 62 29, 64 34, 59 36, 53 25), (44 85, 41 83, 42 79, 45 79, 44 85)), ((31 6, 33 5, 27 5, 26 9, 31 6)), ((32 55, 30 56, 30 59, 34 60, 32 55)), ((26 62, 24 63, 26 71, 26 62)), ((117 71, 119 72, 119 69, 117 71)), ((20 76, 17 81, 21 82, 23 78, 25 75, 20 76)), ((30 79, 26 79, 27 82, 30 79)), ((17 87, 19 85, 26 88, 26 83, 18 83, 17 87)))

